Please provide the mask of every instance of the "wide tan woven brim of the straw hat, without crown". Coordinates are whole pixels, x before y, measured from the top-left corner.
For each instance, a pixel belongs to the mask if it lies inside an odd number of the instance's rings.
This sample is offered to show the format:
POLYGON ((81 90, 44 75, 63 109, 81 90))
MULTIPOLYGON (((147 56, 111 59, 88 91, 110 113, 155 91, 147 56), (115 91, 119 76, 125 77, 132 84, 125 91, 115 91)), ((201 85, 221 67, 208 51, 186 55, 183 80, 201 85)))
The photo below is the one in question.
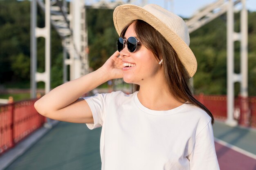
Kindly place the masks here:
POLYGON ((171 44, 177 53, 180 61, 186 68, 188 77, 193 77, 197 70, 197 62, 195 55, 189 46, 164 22, 159 20, 155 15, 142 7, 132 4, 124 4, 115 8, 113 13, 113 21, 118 35, 124 27, 133 20, 143 20, 153 26, 164 38, 171 44))

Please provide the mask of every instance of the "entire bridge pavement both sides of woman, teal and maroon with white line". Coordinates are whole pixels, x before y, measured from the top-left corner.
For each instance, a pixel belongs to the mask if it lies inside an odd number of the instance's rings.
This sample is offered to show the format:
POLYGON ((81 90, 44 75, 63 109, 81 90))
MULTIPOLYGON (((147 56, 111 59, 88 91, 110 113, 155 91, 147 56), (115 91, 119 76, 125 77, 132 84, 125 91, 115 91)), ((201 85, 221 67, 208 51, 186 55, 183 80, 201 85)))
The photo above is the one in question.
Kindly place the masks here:
MULTIPOLYGON (((16 158, 11 159, 19 146, 2 155, 0 170, 100 170, 100 133, 101 128, 89 130, 85 124, 61 121, 38 135, 37 141, 16 158), (8 159, 1 168, 3 160, 8 159)), ((233 128, 216 121, 213 133, 221 170, 256 170, 255 129, 233 128)))

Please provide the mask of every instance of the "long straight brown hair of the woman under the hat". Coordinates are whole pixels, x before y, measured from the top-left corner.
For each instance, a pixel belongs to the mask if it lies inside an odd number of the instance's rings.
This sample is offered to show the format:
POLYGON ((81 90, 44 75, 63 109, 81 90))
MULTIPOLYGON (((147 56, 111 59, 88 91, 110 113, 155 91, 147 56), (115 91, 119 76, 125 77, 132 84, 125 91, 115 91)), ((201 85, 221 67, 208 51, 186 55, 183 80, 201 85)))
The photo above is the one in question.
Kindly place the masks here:
MULTIPOLYGON (((179 102, 188 101, 189 104, 202 108, 211 117, 211 124, 213 124, 214 118, 211 112, 193 97, 188 86, 189 79, 186 78, 188 73, 171 44, 147 22, 134 20, 130 24, 133 22, 135 22, 135 33, 141 43, 152 51, 158 61, 163 59, 165 79, 173 97, 179 102)), ((122 30, 120 35, 122 38, 130 24, 122 30)), ((139 85, 133 84, 132 86, 133 90, 139 91, 139 85)))

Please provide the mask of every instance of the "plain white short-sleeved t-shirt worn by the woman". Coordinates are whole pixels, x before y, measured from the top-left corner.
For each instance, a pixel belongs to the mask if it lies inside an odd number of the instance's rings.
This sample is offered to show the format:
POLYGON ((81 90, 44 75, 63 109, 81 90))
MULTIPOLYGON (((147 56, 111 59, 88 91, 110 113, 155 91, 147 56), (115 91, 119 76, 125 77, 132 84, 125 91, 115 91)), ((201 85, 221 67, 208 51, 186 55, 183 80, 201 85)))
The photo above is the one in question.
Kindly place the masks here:
POLYGON ((135 92, 85 97, 102 126, 101 170, 219 170, 211 117, 191 104, 150 110, 135 92))

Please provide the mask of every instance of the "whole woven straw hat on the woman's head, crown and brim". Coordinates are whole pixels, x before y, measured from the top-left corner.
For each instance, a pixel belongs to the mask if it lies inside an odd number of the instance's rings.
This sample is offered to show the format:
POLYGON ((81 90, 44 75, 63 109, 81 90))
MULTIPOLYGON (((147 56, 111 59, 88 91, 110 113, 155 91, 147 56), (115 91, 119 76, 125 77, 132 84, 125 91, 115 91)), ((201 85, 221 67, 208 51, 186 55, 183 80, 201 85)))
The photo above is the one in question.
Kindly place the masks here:
POLYGON ((197 62, 189 48, 189 31, 182 18, 156 4, 147 4, 144 7, 124 4, 115 8, 113 20, 119 35, 133 20, 143 20, 153 26, 173 46, 189 78, 193 77, 197 62))

